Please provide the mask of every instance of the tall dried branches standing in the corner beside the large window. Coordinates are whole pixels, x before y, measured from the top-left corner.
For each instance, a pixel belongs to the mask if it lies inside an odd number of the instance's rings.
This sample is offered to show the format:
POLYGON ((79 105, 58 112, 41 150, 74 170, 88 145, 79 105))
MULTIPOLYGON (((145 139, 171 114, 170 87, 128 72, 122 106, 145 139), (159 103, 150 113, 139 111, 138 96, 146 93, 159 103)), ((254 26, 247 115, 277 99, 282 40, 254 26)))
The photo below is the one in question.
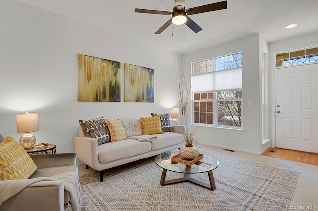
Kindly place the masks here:
POLYGON ((185 81, 177 84, 177 93, 179 98, 180 110, 183 116, 183 125, 186 125, 185 114, 187 109, 187 103, 191 95, 191 84, 185 81))

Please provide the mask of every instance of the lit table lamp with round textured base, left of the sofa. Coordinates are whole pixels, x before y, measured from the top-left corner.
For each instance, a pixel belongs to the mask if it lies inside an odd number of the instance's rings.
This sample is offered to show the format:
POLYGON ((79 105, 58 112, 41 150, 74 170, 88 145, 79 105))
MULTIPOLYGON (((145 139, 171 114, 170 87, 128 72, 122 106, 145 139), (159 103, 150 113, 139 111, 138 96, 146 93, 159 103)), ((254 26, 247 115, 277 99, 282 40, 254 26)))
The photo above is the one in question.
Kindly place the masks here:
POLYGON ((16 114, 16 128, 18 133, 26 133, 21 136, 19 142, 24 148, 32 147, 36 138, 30 132, 39 131, 38 113, 22 113, 16 114))

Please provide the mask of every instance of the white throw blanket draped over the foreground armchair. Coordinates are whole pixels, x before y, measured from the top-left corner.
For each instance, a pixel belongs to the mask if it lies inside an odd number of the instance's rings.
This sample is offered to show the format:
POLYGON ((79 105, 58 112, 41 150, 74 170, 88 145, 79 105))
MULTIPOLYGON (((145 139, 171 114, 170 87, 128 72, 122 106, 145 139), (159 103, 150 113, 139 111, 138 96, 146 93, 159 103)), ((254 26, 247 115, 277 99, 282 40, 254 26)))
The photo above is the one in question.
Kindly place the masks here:
POLYGON ((21 192, 30 186, 46 186, 42 181, 61 181, 64 190, 70 193, 72 211, 81 210, 81 187, 79 177, 76 172, 65 172, 52 177, 38 177, 33 179, 18 179, 0 181, 0 206, 4 201, 21 192))

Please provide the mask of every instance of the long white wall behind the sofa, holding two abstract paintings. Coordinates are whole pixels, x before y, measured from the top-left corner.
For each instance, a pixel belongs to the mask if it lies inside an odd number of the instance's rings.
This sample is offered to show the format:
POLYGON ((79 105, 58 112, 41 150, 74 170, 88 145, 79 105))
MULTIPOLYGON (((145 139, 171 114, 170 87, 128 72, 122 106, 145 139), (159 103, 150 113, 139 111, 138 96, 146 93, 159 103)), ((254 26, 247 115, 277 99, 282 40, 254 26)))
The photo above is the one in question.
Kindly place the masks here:
MULTIPOLYGON (((74 152, 79 119, 139 118, 178 107, 182 56, 14 0, 0 6, 0 133, 16 140, 15 114, 39 113, 37 142, 74 152), (77 54, 154 69, 154 103, 78 102, 77 54)), ((123 63, 122 63, 123 67, 123 63)))

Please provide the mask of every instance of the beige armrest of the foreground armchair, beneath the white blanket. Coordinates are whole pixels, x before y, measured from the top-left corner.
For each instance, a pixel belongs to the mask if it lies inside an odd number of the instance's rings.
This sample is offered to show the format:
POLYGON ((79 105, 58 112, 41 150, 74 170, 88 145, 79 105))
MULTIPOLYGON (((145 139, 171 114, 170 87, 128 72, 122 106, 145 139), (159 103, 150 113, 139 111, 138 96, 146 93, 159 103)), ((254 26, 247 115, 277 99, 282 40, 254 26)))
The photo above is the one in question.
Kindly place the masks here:
POLYGON ((24 188, 7 199, 0 211, 63 211, 64 185, 60 181, 42 181, 24 188))

